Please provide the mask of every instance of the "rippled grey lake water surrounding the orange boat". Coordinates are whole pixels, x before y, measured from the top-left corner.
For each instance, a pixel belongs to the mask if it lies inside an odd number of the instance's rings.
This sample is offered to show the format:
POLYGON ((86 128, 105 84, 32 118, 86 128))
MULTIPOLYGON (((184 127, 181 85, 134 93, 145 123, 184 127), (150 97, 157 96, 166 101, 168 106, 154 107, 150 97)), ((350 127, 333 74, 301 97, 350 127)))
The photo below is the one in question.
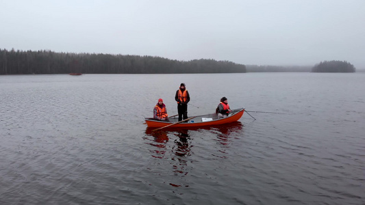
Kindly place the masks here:
POLYGON ((0 204, 365 204, 365 73, 0 76, 0 204), (177 113, 227 126, 152 133, 177 113), (273 113, 262 113, 273 112, 273 113))

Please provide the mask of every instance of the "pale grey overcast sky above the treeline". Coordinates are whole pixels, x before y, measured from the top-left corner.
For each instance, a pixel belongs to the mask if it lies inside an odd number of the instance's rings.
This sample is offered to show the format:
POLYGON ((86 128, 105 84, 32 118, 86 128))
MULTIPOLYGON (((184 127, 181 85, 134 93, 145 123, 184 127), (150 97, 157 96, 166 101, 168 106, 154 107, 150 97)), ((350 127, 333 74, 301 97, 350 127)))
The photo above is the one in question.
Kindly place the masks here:
POLYGON ((0 49, 365 68, 365 0, 0 0, 0 49))

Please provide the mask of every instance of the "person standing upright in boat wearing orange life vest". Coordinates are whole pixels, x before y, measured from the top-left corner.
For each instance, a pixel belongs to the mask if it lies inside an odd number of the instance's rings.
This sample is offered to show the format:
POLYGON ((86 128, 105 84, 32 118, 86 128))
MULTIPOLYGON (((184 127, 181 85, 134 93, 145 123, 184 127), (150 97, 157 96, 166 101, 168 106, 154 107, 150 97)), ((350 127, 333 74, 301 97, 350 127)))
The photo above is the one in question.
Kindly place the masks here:
POLYGON ((181 83, 179 90, 176 91, 175 100, 177 102, 177 113, 179 114, 179 121, 188 119, 188 102, 190 96, 188 90, 186 90, 185 83, 181 83))

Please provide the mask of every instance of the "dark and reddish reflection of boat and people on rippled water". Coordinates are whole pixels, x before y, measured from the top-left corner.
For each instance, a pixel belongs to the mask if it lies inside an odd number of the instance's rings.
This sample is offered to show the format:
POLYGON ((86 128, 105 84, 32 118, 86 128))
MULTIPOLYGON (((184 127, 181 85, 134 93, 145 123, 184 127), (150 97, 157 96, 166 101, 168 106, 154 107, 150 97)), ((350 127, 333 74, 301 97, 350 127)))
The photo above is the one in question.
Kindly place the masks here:
MULTIPOLYGON (((148 144, 152 146, 149 150, 151 156, 158 159, 171 159, 175 161, 173 165, 173 174, 175 176, 184 177, 192 169, 192 161, 189 161, 189 156, 192 155, 192 145, 190 135, 194 132, 209 131, 212 133, 212 138, 218 142, 218 152, 226 153, 226 149, 229 148, 229 142, 231 137, 242 137, 243 124, 241 122, 232 122, 225 124, 224 126, 210 126, 201 128, 166 128, 164 130, 154 131, 155 128, 146 129, 146 135, 151 137, 144 137, 144 139, 151 140, 148 144), (170 136, 170 137, 169 137, 170 136), (173 143, 169 141, 169 138, 173 139, 173 143), (171 150, 171 151, 170 151, 171 150), (172 155, 169 153, 173 153, 172 155)), ((210 134, 209 134, 210 135, 210 134)), ((207 139, 208 140, 208 139, 207 139)), ((213 156, 219 154, 212 153, 213 156)), ((225 158, 225 156, 218 156, 225 158)), ((180 182, 170 183, 173 187, 188 187, 187 184, 178 184, 180 182)))

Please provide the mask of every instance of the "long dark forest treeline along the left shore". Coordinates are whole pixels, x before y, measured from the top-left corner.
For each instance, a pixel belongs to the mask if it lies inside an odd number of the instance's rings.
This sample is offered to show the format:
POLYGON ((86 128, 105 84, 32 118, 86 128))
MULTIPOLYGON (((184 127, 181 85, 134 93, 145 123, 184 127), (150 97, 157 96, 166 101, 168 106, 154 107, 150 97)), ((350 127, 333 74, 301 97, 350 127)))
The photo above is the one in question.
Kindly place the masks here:
POLYGON ((53 51, 7 51, 0 49, 0 74, 154 74, 246 72, 231 61, 194 59, 177 61, 163 57, 53 51))

